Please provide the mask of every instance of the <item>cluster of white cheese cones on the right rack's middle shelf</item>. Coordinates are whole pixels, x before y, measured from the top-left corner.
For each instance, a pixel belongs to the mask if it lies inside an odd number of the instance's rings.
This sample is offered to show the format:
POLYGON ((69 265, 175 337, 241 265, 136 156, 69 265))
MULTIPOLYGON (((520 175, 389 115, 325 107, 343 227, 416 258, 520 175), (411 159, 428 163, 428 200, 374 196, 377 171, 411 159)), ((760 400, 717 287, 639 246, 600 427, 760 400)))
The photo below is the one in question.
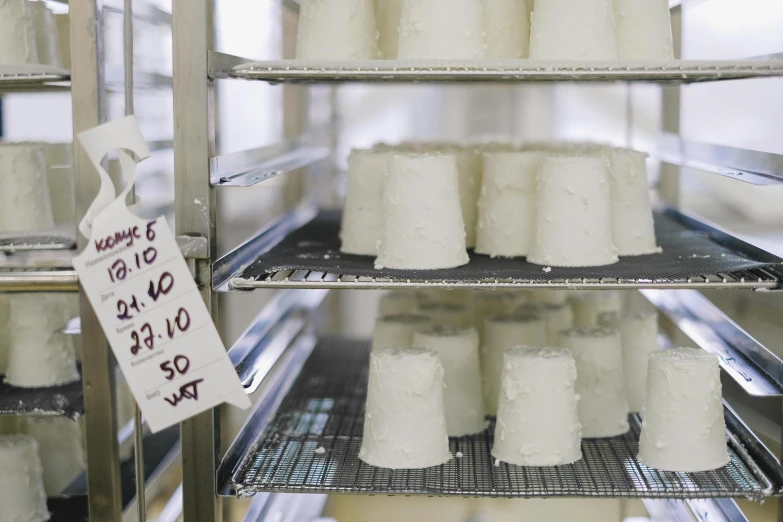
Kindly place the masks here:
POLYGON ((354 151, 341 251, 422 270, 465 265, 469 248, 545 267, 658 253, 646 158, 578 143, 354 151))

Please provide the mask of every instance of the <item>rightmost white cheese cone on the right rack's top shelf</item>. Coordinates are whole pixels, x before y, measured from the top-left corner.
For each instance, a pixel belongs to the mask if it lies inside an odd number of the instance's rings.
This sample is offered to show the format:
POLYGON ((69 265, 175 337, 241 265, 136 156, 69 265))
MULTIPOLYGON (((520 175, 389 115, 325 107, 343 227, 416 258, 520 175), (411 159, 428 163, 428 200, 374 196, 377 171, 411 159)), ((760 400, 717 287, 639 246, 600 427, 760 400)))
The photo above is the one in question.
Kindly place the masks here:
POLYGON ((614 19, 621 60, 674 60, 667 0, 614 0, 614 19))

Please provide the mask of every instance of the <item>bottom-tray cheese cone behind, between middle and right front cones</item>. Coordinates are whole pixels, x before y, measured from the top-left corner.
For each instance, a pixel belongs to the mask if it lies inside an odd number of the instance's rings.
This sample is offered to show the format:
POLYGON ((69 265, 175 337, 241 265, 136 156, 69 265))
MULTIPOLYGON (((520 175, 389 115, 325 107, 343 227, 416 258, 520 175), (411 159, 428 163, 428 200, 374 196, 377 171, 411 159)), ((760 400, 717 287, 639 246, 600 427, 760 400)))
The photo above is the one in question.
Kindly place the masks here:
POLYGON ((628 431, 628 401, 620 332, 601 327, 560 334, 559 345, 576 361, 582 437, 614 437, 628 431))

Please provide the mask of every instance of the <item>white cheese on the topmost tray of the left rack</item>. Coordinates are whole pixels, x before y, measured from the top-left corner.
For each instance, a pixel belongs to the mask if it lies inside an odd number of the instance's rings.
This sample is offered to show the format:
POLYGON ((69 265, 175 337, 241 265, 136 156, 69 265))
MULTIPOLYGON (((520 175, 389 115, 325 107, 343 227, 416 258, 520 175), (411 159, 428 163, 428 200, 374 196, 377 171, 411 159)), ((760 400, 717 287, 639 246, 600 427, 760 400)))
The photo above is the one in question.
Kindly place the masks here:
POLYGON ((43 64, 70 69, 67 14, 42 0, 0 3, 0 65, 43 64))

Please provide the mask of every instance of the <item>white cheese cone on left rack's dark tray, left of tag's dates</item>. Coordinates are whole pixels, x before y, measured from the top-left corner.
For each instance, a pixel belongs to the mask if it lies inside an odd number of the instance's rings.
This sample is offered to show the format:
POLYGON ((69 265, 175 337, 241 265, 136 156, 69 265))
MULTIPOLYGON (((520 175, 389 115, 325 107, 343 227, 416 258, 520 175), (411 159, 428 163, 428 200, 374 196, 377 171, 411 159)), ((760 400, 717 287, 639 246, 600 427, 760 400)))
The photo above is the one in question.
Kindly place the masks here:
POLYGON ((14 328, 5 382, 40 388, 79 380, 71 336, 59 332, 68 319, 61 295, 11 296, 14 328))

